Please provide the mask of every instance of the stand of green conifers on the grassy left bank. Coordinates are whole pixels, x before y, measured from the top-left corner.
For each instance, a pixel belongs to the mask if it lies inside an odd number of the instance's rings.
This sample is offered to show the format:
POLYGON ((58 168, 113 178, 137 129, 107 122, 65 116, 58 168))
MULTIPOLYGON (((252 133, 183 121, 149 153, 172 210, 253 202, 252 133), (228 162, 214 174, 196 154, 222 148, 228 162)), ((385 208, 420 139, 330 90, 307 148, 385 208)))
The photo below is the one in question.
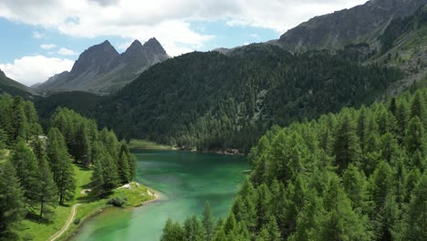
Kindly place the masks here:
POLYGON ((93 169, 95 196, 129 183, 136 172, 126 142, 113 131, 99 131, 95 121, 58 108, 45 135, 31 101, 1 96, 0 239, 15 238, 11 230, 23 218, 49 223, 57 204, 72 203, 75 165, 93 169))

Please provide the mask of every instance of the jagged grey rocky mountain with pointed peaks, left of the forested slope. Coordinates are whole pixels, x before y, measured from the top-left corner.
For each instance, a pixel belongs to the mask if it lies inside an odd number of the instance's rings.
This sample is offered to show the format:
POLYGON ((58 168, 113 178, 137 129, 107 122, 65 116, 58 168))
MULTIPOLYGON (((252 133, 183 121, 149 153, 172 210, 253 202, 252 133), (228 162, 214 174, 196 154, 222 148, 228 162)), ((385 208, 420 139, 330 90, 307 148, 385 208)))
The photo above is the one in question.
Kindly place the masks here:
POLYGON ((71 71, 57 74, 36 87, 48 95, 60 91, 89 91, 109 94, 121 89, 141 72, 169 58, 155 38, 143 45, 135 40, 122 54, 108 40, 89 47, 74 63, 71 71))

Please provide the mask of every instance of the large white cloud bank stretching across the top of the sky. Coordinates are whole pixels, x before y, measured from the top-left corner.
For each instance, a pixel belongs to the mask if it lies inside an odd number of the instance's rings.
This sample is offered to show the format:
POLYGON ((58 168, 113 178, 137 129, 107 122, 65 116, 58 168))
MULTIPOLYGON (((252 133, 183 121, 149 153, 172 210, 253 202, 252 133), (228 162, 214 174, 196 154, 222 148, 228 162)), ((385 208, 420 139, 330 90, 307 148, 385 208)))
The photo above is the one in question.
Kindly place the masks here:
MULTIPOLYGON (((366 0, 2 0, 0 16, 57 29, 72 37, 116 36, 141 41, 156 37, 172 56, 200 49, 213 38, 192 21, 273 29, 277 35, 318 16, 366 0), (48 15, 46 13, 49 13, 48 15)), ((34 37, 42 37, 42 34, 34 37)))

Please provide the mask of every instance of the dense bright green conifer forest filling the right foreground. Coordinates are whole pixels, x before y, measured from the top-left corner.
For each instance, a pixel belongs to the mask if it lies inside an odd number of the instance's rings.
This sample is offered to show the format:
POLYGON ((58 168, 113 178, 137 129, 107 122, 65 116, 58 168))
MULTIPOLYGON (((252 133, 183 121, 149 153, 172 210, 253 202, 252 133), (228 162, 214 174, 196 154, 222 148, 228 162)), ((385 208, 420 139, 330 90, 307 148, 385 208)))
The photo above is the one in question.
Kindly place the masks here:
POLYGON ((274 126, 228 217, 169 220, 161 240, 426 240, 426 108, 421 89, 274 126))

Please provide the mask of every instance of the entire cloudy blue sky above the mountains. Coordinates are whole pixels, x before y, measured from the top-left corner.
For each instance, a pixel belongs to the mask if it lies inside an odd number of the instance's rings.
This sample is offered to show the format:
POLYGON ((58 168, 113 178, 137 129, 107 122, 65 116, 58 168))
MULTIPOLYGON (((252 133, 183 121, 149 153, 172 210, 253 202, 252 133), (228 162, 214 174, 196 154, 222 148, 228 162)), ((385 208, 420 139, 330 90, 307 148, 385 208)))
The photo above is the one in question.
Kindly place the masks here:
POLYGON ((156 37, 172 57, 277 39, 367 0, 0 0, 0 69, 27 86, 70 70, 108 39, 121 53, 156 37))

